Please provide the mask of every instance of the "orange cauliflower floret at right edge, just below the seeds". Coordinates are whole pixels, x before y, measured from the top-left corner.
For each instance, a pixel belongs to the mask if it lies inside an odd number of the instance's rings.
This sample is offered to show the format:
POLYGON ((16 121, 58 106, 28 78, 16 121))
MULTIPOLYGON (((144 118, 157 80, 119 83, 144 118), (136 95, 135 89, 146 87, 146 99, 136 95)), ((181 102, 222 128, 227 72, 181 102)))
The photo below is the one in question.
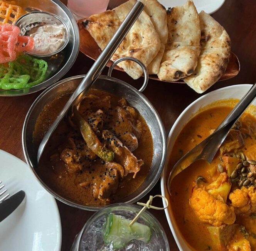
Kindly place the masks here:
POLYGON ((232 206, 236 214, 250 214, 256 212, 256 189, 254 186, 249 188, 242 187, 229 194, 232 206))

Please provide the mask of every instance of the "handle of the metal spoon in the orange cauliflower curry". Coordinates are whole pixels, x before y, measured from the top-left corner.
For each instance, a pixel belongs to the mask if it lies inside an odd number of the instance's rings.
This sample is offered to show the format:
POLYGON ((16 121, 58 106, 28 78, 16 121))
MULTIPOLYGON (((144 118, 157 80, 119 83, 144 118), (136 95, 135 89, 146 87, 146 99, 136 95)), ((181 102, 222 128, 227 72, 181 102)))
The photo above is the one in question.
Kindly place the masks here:
POLYGON ((218 126, 216 131, 231 122, 235 123, 241 117, 244 111, 248 108, 248 106, 251 105, 251 103, 255 98, 256 98, 256 84, 254 84, 251 87, 251 89, 248 91, 248 93, 246 93, 246 95, 243 96, 243 98, 241 98, 241 100, 237 103, 234 109, 229 113, 229 115, 226 116, 226 118, 218 126))

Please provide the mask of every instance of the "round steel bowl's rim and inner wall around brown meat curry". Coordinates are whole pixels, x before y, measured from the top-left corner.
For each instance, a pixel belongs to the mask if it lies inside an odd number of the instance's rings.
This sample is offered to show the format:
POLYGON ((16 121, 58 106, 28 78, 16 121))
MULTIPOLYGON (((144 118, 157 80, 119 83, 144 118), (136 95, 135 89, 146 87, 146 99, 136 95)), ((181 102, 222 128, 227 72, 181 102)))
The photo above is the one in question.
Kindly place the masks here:
MULTIPOLYGON (((54 100, 56 96, 61 95, 62 93, 74 91, 74 89, 76 89, 83 77, 84 76, 82 75, 74 76, 59 81, 58 83, 47 88, 47 90, 39 95, 39 97, 30 107, 25 118, 22 131, 22 146, 25 159, 30 166, 32 173, 34 174, 37 181, 39 181, 39 183, 49 193, 51 193, 56 199, 59 199, 60 201, 70 206, 85 210, 96 211, 98 209, 101 209, 101 207, 86 206, 76 203, 71 199, 63 198, 51 188, 49 188, 49 186, 47 186, 44 181, 40 179, 36 171, 37 147, 33 144, 33 132, 35 128, 35 123, 39 114, 44 109, 45 105, 47 105, 47 103, 54 100)), ((108 91, 109 93, 124 97, 130 103, 130 105, 136 108, 141 116, 143 116, 152 134, 153 160, 150 171, 145 181, 134 193, 126 196, 126 198, 122 199, 121 201, 118 201, 118 203, 135 203, 153 188, 162 173, 166 156, 166 136, 163 123, 150 101, 148 101, 148 99, 143 94, 141 94, 138 90, 136 90, 128 83, 109 76, 99 76, 98 80, 96 80, 92 88, 108 91)))

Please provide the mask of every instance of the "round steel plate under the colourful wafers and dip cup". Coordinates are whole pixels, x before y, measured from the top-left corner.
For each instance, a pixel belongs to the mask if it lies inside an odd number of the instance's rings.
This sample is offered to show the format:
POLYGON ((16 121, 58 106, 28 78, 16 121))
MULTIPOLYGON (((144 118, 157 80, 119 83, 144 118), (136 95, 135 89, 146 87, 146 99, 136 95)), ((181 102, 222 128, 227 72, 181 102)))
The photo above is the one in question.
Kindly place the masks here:
POLYGON ((45 81, 27 89, 0 89, 0 96, 27 95, 56 83, 56 81, 60 80, 67 71, 69 71, 79 52, 80 38, 77 23, 69 9, 63 3, 59 0, 22 0, 19 1, 19 6, 24 8, 27 12, 42 11, 59 17, 68 29, 69 40, 66 47, 61 52, 47 57, 47 59, 44 58, 48 63, 45 81))

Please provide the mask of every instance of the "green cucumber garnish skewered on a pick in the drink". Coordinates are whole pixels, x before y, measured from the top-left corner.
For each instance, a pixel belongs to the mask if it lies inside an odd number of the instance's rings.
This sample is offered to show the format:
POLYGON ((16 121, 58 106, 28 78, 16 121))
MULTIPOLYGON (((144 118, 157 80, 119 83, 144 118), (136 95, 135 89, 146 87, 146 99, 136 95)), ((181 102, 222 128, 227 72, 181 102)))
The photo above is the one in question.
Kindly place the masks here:
POLYGON ((151 230, 148 226, 135 222, 129 226, 130 220, 116 214, 109 214, 104 226, 104 243, 112 243, 114 249, 126 246, 132 240, 148 243, 151 239, 151 230))

